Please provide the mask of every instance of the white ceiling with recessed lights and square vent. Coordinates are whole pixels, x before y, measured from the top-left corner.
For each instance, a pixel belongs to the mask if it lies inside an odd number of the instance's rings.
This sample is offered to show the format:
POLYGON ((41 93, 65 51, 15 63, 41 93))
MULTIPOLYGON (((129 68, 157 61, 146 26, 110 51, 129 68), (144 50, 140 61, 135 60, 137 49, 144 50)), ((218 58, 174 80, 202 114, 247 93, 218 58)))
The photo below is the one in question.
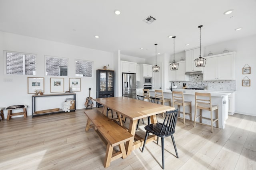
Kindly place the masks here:
POLYGON ((172 54, 168 35, 175 53, 198 47, 199 25, 204 46, 255 35, 256 0, 0 0, 0 31, 141 58, 155 56, 155 43, 172 54))

